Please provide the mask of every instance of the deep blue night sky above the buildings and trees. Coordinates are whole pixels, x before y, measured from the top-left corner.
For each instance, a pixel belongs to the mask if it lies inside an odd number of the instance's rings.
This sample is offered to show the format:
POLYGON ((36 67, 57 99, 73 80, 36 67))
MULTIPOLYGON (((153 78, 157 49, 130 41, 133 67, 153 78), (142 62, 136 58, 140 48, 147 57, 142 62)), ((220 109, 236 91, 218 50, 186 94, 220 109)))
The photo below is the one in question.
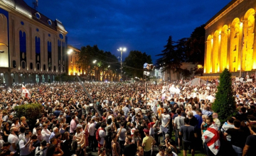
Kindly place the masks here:
MULTIPOLYGON (((32 0, 25 0, 32 6, 32 0)), ((151 55, 155 61, 169 35, 188 38, 231 0, 38 0, 38 11, 58 18, 76 48, 98 45, 119 56, 126 47, 151 55)))

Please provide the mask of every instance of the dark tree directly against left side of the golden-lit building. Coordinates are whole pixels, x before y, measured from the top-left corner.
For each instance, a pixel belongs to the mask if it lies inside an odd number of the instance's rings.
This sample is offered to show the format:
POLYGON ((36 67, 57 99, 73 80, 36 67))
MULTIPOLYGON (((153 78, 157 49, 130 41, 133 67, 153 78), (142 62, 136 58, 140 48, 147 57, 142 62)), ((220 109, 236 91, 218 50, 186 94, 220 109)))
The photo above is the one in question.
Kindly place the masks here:
POLYGON ((187 62, 193 62, 193 64, 198 63, 199 65, 203 65, 204 62, 204 54, 205 54, 205 35, 206 25, 202 25, 197 27, 193 33, 191 33, 191 37, 186 41, 186 57, 187 62))

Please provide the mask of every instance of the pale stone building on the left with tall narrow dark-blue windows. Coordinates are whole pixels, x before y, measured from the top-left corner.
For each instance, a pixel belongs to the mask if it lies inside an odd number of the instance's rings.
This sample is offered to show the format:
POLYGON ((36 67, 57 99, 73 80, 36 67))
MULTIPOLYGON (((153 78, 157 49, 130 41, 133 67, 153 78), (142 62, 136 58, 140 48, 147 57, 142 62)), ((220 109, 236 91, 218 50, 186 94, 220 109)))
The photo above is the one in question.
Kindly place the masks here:
POLYGON ((53 82, 65 72, 63 24, 23 0, 0 0, 0 84, 53 82))

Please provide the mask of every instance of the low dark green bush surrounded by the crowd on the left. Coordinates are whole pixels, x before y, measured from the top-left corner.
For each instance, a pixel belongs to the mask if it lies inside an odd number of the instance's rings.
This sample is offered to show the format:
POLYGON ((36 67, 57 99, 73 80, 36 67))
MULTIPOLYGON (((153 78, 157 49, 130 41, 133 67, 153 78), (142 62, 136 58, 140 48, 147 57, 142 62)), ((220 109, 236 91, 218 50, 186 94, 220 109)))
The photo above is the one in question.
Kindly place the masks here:
POLYGON ((14 110, 16 111, 15 116, 21 118, 25 116, 28 121, 28 126, 33 128, 36 123, 36 119, 41 117, 43 106, 41 104, 22 104, 21 106, 16 106, 14 110))

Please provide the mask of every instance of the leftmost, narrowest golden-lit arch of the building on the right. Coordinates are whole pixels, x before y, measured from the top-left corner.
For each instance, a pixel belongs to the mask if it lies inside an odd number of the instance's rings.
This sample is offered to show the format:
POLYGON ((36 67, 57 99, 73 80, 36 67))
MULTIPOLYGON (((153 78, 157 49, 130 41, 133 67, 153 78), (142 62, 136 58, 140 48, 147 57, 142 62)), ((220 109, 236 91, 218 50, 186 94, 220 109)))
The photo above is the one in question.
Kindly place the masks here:
POLYGON ((212 72, 211 59, 212 59, 212 36, 208 35, 208 38, 206 41, 206 72, 207 73, 212 72))

